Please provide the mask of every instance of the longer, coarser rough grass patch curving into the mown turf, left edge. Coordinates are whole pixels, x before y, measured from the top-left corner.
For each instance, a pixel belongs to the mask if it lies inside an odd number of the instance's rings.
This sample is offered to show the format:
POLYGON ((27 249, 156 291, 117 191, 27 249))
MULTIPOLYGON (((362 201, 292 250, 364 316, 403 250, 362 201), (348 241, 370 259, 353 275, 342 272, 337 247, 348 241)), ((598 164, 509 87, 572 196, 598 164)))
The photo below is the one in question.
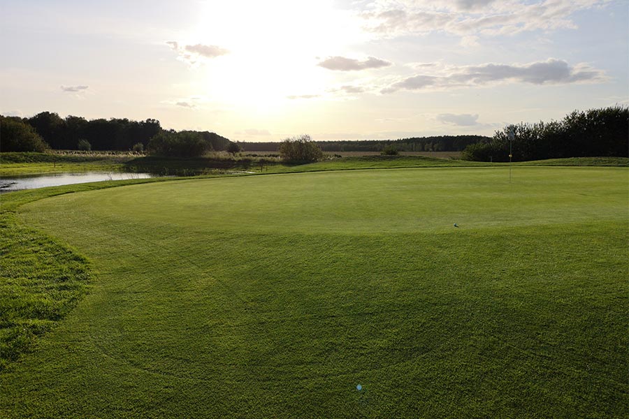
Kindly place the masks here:
POLYGON ((0 213, 0 371, 50 330, 85 293, 87 260, 15 214, 0 213))

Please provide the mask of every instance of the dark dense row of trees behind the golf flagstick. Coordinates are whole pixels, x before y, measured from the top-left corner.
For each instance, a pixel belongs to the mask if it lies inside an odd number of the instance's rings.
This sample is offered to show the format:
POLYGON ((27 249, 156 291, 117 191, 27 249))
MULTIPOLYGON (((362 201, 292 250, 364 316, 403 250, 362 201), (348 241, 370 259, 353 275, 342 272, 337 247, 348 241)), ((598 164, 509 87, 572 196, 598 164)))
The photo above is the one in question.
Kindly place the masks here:
POLYGON ((509 161, 509 149, 513 161, 629 157, 629 108, 574 110, 561 121, 510 124, 493 138, 469 145, 461 156, 465 160, 509 161))

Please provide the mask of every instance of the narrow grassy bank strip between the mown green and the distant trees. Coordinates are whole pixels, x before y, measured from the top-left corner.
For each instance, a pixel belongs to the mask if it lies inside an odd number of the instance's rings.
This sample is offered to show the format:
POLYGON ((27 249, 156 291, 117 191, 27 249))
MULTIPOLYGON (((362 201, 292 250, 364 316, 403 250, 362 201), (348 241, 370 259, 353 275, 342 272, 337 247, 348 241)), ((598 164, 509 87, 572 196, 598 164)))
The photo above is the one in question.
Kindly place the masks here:
MULTIPOLYGON (((419 155, 327 156, 309 164, 283 163, 277 156, 210 153, 196 158, 140 156, 133 153, 0 153, 0 177, 67 172, 149 172, 163 176, 218 175, 233 172, 282 173, 422 167, 504 166, 507 163, 462 161, 419 155)), ((629 159, 587 157, 514 162, 513 166, 629 166, 629 159)))

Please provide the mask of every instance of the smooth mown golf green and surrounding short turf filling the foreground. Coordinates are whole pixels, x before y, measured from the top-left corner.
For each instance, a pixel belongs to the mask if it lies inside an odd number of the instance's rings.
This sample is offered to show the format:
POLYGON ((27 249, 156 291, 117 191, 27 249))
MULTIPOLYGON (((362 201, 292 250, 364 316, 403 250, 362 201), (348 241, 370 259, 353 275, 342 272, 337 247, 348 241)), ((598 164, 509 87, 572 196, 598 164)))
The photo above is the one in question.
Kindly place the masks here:
POLYGON ((314 172, 24 205, 93 273, 0 374, 0 417, 621 418, 628 173, 314 172))

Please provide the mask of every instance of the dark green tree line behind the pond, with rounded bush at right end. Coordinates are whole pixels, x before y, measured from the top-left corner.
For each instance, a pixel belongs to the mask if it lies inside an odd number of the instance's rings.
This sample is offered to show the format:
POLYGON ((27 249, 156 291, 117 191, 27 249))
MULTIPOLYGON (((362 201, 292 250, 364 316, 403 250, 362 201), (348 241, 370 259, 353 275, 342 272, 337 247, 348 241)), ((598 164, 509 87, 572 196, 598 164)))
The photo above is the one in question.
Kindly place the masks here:
POLYGON ((62 118, 56 112, 40 112, 29 118, 1 115, 0 118, 2 130, 0 151, 3 152, 42 152, 47 148, 152 150, 156 154, 189 156, 192 152, 225 150, 231 143, 227 138, 209 131, 165 130, 157 119, 88 120, 73 115, 62 118), (154 140, 153 144, 151 144, 152 140, 154 140))

